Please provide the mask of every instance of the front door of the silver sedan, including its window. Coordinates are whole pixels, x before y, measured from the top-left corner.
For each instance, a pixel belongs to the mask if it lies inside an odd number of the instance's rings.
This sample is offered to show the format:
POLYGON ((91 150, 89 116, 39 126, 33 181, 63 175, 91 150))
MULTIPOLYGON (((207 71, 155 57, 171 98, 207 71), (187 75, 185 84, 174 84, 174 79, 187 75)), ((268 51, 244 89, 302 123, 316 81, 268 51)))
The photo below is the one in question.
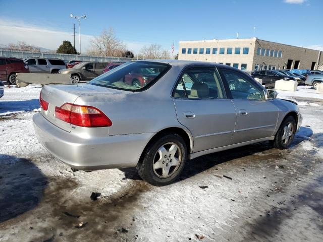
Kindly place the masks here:
POLYGON ((221 68, 220 73, 228 85, 235 80, 237 88, 230 90, 237 111, 237 123, 231 144, 273 136, 278 119, 278 107, 266 100, 264 89, 245 73, 221 68))

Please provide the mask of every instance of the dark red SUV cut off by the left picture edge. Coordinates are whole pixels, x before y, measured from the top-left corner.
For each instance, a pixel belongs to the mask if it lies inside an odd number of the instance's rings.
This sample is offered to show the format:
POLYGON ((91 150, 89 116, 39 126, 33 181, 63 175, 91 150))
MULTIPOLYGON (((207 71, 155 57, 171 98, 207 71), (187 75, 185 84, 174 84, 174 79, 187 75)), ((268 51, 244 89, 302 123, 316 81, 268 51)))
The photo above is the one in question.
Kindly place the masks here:
POLYGON ((16 73, 29 73, 23 59, 0 57, 0 81, 17 84, 16 73))

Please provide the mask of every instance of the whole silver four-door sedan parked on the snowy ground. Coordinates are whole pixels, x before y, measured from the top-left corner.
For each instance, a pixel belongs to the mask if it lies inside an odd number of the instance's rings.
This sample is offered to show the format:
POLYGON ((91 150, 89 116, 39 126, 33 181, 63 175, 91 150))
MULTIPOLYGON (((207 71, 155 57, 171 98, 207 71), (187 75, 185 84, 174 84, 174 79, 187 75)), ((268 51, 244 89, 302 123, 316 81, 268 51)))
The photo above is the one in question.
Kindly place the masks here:
POLYGON ((137 167, 163 186, 187 159, 262 141, 288 148, 302 116, 276 96, 229 66, 134 61, 87 84, 45 85, 33 122, 43 147, 74 169, 137 167), (151 70, 141 85, 128 80, 151 70))

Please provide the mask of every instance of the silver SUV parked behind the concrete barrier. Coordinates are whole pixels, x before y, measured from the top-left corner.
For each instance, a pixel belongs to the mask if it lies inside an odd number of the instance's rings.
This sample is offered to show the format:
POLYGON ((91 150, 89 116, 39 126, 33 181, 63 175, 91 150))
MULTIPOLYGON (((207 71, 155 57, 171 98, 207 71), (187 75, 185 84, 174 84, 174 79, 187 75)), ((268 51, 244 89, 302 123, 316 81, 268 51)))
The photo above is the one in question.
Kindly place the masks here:
POLYGON ((66 68, 62 59, 28 58, 25 60, 31 73, 59 73, 66 68))

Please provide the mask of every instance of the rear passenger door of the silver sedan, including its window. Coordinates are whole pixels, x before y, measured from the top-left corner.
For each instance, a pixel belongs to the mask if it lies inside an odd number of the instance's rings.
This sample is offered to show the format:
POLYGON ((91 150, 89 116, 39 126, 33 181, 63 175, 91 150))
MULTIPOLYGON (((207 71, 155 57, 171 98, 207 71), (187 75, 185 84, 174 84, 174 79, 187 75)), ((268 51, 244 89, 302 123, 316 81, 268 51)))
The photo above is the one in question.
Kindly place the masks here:
POLYGON ((193 152, 230 143, 236 110, 233 102, 226 98, 215 68, 186 69, 180 75, 173 97, 178 122, 192 133, 193 152))

